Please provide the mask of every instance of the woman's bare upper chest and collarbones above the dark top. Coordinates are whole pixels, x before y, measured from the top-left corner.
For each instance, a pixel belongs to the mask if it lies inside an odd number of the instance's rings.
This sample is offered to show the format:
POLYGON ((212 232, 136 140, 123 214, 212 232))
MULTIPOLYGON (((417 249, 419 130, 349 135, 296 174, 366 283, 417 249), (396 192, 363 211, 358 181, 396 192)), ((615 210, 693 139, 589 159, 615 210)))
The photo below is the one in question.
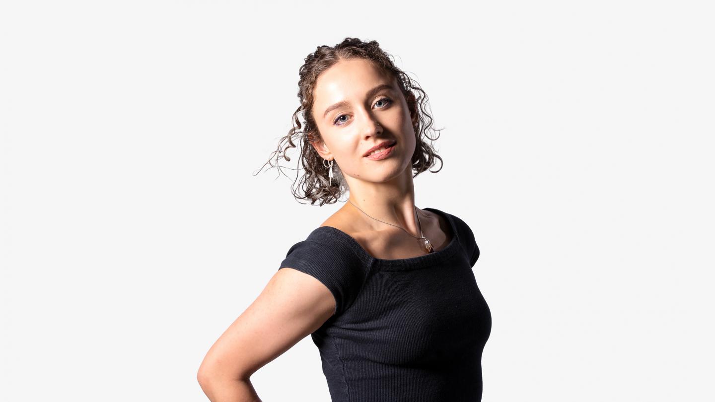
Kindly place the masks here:
MULTIPOLYGON (((364 220, 371 218, 364 215, 363 212, 357 212, 362 216, 356 216, 350 210, 341 208, 320 226, 332 226, 342 230, 355 239, 374 258, 397 260, 428 254, 420 239, 409 235, 398 227, 382 223, 380 225, 385 226, 385 229, 365 230, 364 220)), ((449 222, 441 215, 427 210, 418 210, 418 215, 423 235, 430 240, 434 250, 438 251, 446 247, 454 236, 449 222)), ((393 223, 393 225, 396 224, 393 223)))

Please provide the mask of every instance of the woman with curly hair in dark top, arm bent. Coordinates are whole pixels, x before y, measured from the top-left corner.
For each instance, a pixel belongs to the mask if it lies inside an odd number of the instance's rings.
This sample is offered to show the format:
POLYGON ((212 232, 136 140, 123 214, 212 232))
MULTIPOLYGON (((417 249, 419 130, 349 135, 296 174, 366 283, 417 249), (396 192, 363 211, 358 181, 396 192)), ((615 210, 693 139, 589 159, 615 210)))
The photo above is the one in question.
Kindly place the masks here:
POLYGON ((281 141, 303 139, 294 194, 350 196, 209 350, 204 392, 260 401, 252 373, 310 334, 332 401, 480 401, 491 315, 471 270, 479 248, 460 218, 415 207, 413 177, 441 161, 423 138, 424 92, 378 42, 353 38, 310 54, 299 87, 281 141))

